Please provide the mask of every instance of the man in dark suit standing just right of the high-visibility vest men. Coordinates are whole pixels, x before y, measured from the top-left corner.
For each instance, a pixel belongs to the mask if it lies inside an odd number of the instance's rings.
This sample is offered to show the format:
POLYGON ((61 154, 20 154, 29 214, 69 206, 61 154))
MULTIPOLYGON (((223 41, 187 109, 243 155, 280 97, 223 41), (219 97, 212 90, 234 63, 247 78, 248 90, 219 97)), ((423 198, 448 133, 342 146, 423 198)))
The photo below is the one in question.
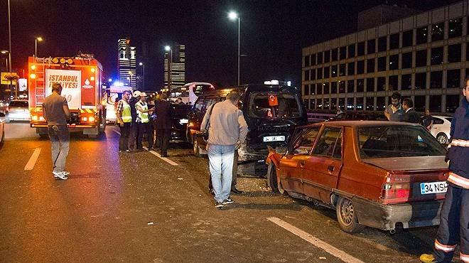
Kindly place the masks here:
POLYGON ((161 157, 168 157, 168 144, 171 136, 171 104, 168 95, 161 94, 161 100, 155 105, 156 137, 161 143, 161 157))

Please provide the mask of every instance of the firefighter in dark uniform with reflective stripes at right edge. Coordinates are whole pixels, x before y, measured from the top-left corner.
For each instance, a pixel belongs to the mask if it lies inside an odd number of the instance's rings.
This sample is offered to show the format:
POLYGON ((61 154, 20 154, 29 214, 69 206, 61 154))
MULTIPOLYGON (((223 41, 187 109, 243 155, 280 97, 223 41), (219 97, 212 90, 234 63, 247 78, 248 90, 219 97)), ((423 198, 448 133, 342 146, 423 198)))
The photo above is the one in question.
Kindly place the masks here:
POLYGON ((451 172, 435 247, 433 254, 421 255, 421 262, 451 262, 458 242, 461 261, 469 262, 469 78, 465 80, 463 95, 451 122, 448 145, 451 172))

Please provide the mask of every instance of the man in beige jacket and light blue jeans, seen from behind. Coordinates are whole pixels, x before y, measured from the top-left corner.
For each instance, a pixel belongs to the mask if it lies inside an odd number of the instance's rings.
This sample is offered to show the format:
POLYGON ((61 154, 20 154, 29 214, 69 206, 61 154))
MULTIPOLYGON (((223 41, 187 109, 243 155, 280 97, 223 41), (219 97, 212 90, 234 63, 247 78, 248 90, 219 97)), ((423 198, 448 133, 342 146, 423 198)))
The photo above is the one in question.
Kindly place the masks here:
POLYGON ((241 96, 230 92, 224 102, 207 109, 200 127, 208 127, 207 152, 215 208, 233 203, 230 198, 234 150, 246 139, 247 124, 237 104, 241 96))

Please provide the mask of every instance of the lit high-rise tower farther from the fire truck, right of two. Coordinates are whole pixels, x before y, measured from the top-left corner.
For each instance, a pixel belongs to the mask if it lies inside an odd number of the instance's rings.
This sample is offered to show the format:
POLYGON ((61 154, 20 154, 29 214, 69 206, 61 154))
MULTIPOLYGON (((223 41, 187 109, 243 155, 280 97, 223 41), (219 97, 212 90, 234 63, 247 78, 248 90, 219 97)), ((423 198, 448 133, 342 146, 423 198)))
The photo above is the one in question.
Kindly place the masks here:
POLYGON ((164 53, 164 88, 171 90, 185 84, 185 45, 174 45, 164 53))

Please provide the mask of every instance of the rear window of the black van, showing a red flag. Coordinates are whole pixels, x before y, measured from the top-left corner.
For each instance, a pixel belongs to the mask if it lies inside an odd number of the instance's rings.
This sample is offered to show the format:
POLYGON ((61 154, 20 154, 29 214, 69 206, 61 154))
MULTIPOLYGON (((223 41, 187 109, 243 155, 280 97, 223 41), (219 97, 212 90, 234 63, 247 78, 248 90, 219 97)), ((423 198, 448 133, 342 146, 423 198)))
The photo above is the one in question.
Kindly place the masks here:
POLYGON ((298 96, 294 94, 257 92, 249 95, 248 115, 257 118, 289 119, 301 117, 301 107, 298 96))

